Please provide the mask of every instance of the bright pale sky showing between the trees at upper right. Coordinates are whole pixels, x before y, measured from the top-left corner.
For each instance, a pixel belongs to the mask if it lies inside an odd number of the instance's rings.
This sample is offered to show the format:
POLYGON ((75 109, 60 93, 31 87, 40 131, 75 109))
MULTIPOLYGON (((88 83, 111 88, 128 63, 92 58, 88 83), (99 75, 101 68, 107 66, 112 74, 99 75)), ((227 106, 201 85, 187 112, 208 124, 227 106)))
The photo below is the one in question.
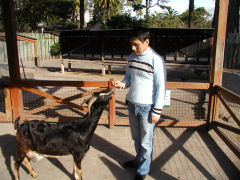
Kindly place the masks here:
MULTIPOLYGON (((189 0, 169 0, 169 3, 166 5, 171 6, 177 12, 182 13, 189 8, 189 0)), ((214 6, 215 0, 194 0, 194 8, 204 7, 210 13, 214 12, 214 6)), ((159 9, 156 10, 159 11, 159 9)))

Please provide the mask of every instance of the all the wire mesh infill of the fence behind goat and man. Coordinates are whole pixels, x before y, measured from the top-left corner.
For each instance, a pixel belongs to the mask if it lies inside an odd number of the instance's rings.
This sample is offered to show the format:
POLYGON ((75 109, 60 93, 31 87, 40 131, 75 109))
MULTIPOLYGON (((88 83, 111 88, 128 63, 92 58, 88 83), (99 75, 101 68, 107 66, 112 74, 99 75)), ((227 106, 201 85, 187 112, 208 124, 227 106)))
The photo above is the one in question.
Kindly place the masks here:
MULTIPOLYGON (((80 93, 84 93, 96 88, 89 87, 58 87, 58 86, 37 86, 35 89, 55 97, 71 101, 77 105, 83 105, 87 108, 87 104, 82 104, 84 99, 90 95, 81 97, 80 93)), ((169 107, 163 108, 161 118, 163 120, 172 121, 206 121, 208 113, 209 94, 207 90, 193 89, 170 89, 171 101, 169 107)), ((1 114, 5 112, 4 91, 0 89, 0 106, 1 114)), ((128 108, 126 105, 126 94, 128 89, 115 91, 115 124, 128 124, 128 108)), ((86 112, 76 108, 72 108, 65 104, 59 104, 56 101, 45 98, 38 94, 22 91, 24 118, 28 120, 54 120, 63 121, 71 120, 84 116, 86 112)), ((108 123, 108 108, 104 111, 100 123, 108 123)))

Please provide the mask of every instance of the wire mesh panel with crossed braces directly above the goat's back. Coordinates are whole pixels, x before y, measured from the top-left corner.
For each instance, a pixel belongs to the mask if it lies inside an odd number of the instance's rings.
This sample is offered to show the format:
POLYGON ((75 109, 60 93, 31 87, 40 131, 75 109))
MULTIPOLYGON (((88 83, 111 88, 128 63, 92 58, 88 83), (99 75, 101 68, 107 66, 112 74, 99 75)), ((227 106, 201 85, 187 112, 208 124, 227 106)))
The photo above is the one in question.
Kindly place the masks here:
MULTIPOLYGON (((85 93, 96 88, 89 87, 58 87, 58 86, 38 86, 35 89, 51 94, 54 97, 61 98, 62 100, 70 101, 71 103, 82 105, 87 108, 84 103, 85 99, 90 97, 82 96, 85 93)), ((64 103, 57 103, 53 99, 45 98, 38 94, 34 94, 23 90, 23 106, 25 118, 28 120, 38 118, 44 120, 63 121, 82 117, 86 112, 72 108, 64 103)), ((104 113, 105 114, 105 113, 104 113)))

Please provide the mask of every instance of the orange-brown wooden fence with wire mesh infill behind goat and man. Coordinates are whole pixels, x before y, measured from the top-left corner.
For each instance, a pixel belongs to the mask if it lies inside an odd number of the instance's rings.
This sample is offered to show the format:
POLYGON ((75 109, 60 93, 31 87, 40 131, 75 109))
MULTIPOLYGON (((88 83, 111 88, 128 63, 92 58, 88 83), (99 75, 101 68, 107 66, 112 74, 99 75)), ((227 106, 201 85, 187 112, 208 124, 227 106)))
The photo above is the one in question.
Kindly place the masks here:
MULTIPOLYGON (((14 111, 19 110, 19 115, 24 120, 44 120, 49 122, 71 121, 80 117, 80 112, 87 112, 86 107, 83 107, 82 99, 85 95, 91 94, 100 88, 112 87, 110 81, 18 81, 14 84, 11 82, 1 82, 1 94, 4 95, 0 99, 0 122, 11 122, 14 120, 14 111), (17 87, 17 88, 16 88, 17 87), (41 88, 44 87, 44 88, 41 88), (52 88, 53 89, 52 89, 52 88), (80 92, 83 88, 97 88, 90 89, 90 91, 80 92), (19 100, 20 106, 14 105, 14 88, 20 91, 19 100), (47 91, 46 88, 48 89, 47 91), (71 88, 71 89, 70 89, 71 88), (73 89, 74 88, 74 89, 73 89), (52 90, 51 90, 52 89, 52 90), (57 92, 58 91, 58 92, 57 92), (34 96, 33 96, 34 95, 34 96), (50 101, 48 101, 50 100, 50 101), (63 106, 64 105, 64 106, 63 106)), ((171 127, 199 127, 208 126, 208 100, 204 100, 200 104, 199 97, 202 95, 204 99, 209 99, 210 84, 209 83, 188 83, 188 82, 167 82, 168 89, 184 90, 184 94, 194 96, 189 99, 178 94, 181 99, 176 99, 174 96, 172 100, 172 113, 164 112, 162 120, 158 122, 158 126, 171 127), (198 91, 196 91, 198 90, 198 91), (202 94, 201 92, 206 92, 202 94), (199 94, 200 93, 200 94, 199 94), (196 101, 196 102, 195 102, 196 101), (206 101, 206 102, 205 102, 206 101), (185 109, 182 103, 185 104, 185 109), (192 108, 191 108, 192 107, 192 108), (173 110, 174 109, 174 110, 173 110), (194 113, 194 114, 193 114, 194 113), (196 117, 197 114, 202 114, 204 117, 196 117), (179 117, 175 116, 178 115, 179 117), (189 115, 189 116, 188 116, 189 115), (191 116, 192 115, 192 116, 191 116), (176 118, 175 118, 176 117, 176 118)), ((179 92, 179 91, 178 91, 179 92)), ((175 93, 174 93, 175 94, 175 93)), ((175 94, 176 95, 176 94, 175 94)), ((109 104, 108 115, 103 113, 99 124, 107 124, 110 128, 114 125, 129 125, 127 107, 124 107, 124 98, 119 99, 119 94, 114 92, 113 98, 109 104)))

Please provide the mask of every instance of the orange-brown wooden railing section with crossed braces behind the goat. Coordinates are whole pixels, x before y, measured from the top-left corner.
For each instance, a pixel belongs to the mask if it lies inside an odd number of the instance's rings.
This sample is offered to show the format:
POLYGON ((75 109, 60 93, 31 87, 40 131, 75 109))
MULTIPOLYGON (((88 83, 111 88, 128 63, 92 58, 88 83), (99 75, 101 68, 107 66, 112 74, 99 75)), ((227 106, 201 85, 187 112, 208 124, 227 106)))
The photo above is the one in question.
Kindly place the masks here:
MULTIPOLYGON (((84 112, 88 112, 87 108, 83 107, 82 105, 78 105, 75 104, 71 101, 80 98, 80 97, 84 97, 87 96, 89 94, 92 94, 93 92, 96 91, 100 91, 102 90, 102 88, 113 88, 112 87, 112 81, 19 81, 19 82, 15 82, 10 83, 10 82, 0 82, 0 86, 4 87, 4 94, 5 94, 5 109, 6 109, 6 113, 5 113, 5 118, 1 118, 2 122, 7 121, 10 122, 12 119, 12 114, 14 113, 13 111, 17 110, 19 107, 15 107, 14 104, 12 104, 11 102, 11 98, 13 98, 13 96, 11 96, 11 89, 12 88, 17 88, 17 89, 21 89, 21 90, 25 90, 34 94, 37 94, 39 96, 51 99, 57 103, 60 104, 65 104, 67 106, 70 106, 72 108, 76 108, 78 110, 84 111, 84 112), (48 94, 46 92, 42 92, 38 89, 32 88, 34 86, 61 86, 61 87, 66 87, 66 86, 71 86, 71 87, 97 87, 97 89, 93 89, 91 91, 88 92, 83 92, 68 98, 59 98, 56 96, 53 96, 51 94, 48 94), (5 120, 3 120, 5 119, 5 120)), ((19 98, 18 101, 22 101, 22 98, 19 98)), ((22 104, 23 102, 17 103, 17 104, 22 104)), ((33 113, 36 113, 37 111, 41 111, 43 109, 46 108, 50 108, 55 106, 56 104, 51 104, 51 105, 47 105, 40 107, 38 110, 35 109, 35 111, 32 111, 32 113, 30 112, 30 115, 33 113)), ((25 117, 25 114, 23 113, 23 107, 20 107, 20 117, 23 117, 24 119, 27 119, 25 117)), ((1 115, 2 117, 4 117, 4 115, 1 115)), ((109 116, 108 116, 108 125, 110 128, 113 127, 114 125, 114 118, 115 118, 115 93, 112 97, 112 99, 110 100, 110 104, 109 104, 109 116)))

